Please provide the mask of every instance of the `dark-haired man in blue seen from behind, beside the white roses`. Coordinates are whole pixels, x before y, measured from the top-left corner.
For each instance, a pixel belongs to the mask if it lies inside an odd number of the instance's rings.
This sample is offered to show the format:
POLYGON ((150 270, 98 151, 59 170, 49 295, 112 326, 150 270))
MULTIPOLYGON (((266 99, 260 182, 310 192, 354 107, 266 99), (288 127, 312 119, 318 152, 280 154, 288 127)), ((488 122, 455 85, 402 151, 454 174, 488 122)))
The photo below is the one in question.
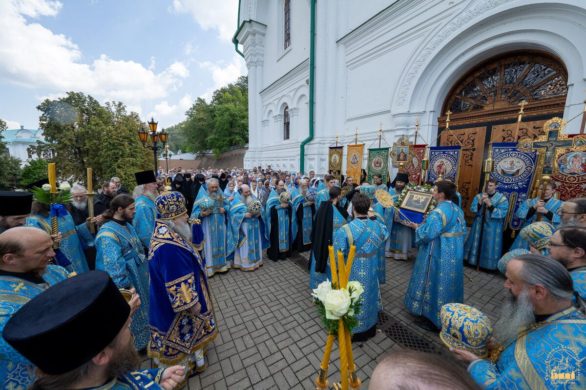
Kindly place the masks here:
MULTIPOLYGON (((383 309, 378 277, 379 248, 387 239, 386 226, 376 220, 371 212, 370 199, 364 194, 352 198, 354 220, 342 226, 334 237, 333 247, 348 256, 350 246, 356 246, 356 254, 350 270, 350 281, 360 282, 364 288, 362 307, 356 315, 352 341, 364 341, 376 334, 377 313, 383 309)), ((338 265, 339 268, 339 265, 338 265)))

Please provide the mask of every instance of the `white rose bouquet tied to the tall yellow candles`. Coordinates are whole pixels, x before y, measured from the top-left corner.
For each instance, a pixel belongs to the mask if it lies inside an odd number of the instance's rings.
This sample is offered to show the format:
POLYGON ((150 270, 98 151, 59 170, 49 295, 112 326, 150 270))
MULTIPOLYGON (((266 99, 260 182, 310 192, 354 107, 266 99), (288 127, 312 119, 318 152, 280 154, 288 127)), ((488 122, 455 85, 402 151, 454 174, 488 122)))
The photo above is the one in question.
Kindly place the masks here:
POLYGON ((360 295, 364 288, 357 281, 350 281, 347 288, 338 288, 326 280, 314 289, 314 301, 318 306, 318 314, 322 317, 322 323, 330 334, 338 334, 338 324, 341 318, 344 326, 352 335, 352 330, 358 325, 356 315, 360 312, 362 298, 360 295))

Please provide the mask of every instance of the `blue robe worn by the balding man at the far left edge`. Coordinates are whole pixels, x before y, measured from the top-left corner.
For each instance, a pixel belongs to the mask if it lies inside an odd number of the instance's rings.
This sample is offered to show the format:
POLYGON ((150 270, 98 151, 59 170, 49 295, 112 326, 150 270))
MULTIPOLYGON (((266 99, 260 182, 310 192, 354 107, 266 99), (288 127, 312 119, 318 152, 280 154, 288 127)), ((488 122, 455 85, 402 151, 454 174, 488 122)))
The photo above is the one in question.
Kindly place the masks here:
POLYGON ((45 283, 42 284, 0 276, 0 389, 26 390, 33 381, 30 361, 2 337, 6 322, 30 299, 68 277, 69 272, 59 265, 47 265, 42 276, 45 283))

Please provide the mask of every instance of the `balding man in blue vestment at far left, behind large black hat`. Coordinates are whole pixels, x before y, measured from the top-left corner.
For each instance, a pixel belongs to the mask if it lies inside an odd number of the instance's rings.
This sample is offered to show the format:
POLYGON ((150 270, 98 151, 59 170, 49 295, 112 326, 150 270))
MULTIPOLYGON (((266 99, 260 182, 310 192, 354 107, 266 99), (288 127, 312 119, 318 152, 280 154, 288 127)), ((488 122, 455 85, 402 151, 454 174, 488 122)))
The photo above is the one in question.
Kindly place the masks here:
POLYGON ((34 227, 12 227, 0 234, 1 389, 25 390, 32 382, 30 361, 6 343, 2 331, 22 305, 69 277, 63 267, 47 265, 49 258, 54 256, 52 246, 49 234, 34 227))

